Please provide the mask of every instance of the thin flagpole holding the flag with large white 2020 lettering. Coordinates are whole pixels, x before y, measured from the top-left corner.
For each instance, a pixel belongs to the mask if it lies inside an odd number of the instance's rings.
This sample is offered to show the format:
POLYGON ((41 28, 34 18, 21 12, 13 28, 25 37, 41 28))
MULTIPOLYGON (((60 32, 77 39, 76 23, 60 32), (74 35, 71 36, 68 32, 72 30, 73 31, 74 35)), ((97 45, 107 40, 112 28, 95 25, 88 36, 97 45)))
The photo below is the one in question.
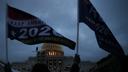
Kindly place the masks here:
POLYGON ((5 48, 6 48, 6 62, 9 62, 8 59, 8 26, 7 26, 7 16, 8 16, 8 7, 7 7, 7 0, 5 2, 6 14, 5 14, 5 48))

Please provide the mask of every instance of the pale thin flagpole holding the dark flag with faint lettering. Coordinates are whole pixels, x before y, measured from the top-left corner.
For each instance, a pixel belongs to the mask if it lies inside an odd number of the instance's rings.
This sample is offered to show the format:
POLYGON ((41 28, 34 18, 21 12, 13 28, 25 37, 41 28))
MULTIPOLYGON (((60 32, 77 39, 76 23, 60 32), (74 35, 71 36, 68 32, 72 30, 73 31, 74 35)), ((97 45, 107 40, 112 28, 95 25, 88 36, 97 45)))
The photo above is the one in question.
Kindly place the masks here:
POLYGON ((79 54, 79 0, 77 0, 77 39, 76 54, 79 54))

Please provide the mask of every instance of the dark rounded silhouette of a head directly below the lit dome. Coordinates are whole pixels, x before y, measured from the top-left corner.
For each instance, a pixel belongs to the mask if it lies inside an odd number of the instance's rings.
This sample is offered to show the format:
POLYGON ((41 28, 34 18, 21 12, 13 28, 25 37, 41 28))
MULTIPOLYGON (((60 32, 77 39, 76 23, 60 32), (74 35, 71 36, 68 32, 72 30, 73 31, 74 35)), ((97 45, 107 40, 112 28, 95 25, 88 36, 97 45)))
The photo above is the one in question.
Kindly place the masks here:
POLYGON ((50 71, 47 65, 37 63, 33 66, 32 72, 50 72, 50 71))

